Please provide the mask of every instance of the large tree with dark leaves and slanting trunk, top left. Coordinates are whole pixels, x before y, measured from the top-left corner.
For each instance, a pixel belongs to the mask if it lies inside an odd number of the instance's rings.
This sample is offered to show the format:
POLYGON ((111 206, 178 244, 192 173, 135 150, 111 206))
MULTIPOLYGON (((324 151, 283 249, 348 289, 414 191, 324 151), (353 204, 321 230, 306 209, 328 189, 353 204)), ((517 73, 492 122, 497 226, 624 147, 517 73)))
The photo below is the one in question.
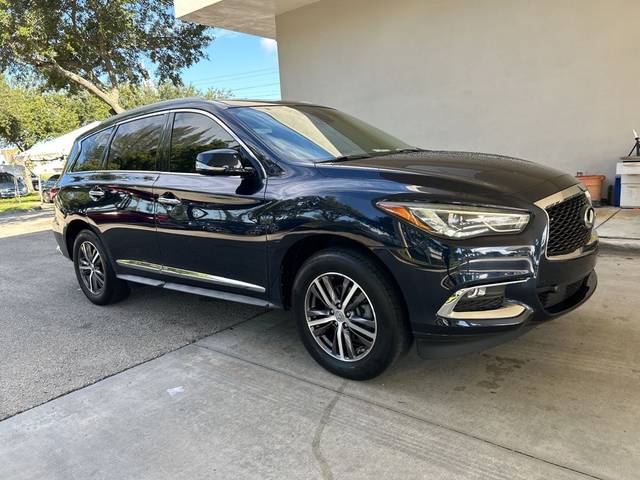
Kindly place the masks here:
POLYGON ((173 15, 172 0, 0 0, 0 68, 34 70, 53 89, 86 89, 115 113, 120 88, 150 79, 180 85, 205 58, 210 29, 173 15))

